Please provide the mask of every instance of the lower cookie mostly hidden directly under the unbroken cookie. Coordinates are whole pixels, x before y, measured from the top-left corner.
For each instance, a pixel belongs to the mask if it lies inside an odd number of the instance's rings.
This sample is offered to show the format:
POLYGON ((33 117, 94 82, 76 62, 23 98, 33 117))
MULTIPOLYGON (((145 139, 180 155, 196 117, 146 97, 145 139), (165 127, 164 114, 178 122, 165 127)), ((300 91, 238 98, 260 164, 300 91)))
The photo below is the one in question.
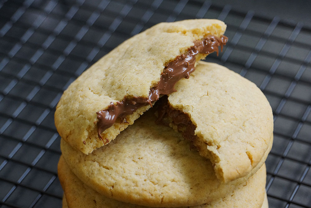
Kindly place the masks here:
MULTIPOLYGON (((66 198, 63 198, 63 208, 68 207, 106 207, 106 208, 147 208, 129 204, 106 196, 100 195, 80 179, 78 179, 67 166, 63 157, 58 163, 58 174, 61 185, 64 189, 66 198)), ((232 207, 249 207, 249 208, 267 208, 267 200, 265 193, 266 168, 262 166, 252 177, 246 182, 237 185, 233 191, 230 191, 225 197, 220 197, 212 201, 210 204, 192 206, 191 208, 232 208, 232 207)), ((141 187, 143 189, 143 187, 141 187)), ((185 208, 185 207, 183 207, 185 208)))

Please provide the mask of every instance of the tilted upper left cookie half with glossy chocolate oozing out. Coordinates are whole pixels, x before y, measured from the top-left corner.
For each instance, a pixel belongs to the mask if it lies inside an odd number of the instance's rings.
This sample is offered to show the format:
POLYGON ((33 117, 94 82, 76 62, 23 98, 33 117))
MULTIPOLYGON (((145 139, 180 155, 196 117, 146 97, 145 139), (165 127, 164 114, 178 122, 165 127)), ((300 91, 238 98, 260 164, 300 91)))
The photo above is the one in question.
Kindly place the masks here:
POLYGON ((160 23, 124 41, 65 90, 55 111, 59 135, 84 154, 108 144, 160 95, 174 92, 196 60, 218 53, 225 28, 209 19, 160 23))

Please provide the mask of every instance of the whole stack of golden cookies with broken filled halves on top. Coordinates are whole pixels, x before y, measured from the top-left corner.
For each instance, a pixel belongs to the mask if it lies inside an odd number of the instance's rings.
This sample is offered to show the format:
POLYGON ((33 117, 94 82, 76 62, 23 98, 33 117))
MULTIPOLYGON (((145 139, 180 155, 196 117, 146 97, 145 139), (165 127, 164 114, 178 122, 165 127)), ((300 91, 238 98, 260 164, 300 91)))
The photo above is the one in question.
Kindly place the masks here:
POLYGON ((68 87, 55 112, 63 207, 268 207, 271 107, 255 84, 199 61, 225 28, 160 23, 68 87))

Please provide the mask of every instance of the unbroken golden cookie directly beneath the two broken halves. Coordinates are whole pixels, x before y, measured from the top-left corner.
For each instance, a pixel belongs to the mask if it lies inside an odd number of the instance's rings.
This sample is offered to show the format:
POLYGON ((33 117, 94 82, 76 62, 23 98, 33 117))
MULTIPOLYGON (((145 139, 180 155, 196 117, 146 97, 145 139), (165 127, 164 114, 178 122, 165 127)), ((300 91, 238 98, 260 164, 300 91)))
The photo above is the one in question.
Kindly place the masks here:
POLYGON ((102 195, 142 206, 178 207, 209 203, 225 196, 241 178, 217 179, 209 159, 172 128, 155 124, 154 108, 91 154, 63 139, 61 150, 72 172, 102 195))

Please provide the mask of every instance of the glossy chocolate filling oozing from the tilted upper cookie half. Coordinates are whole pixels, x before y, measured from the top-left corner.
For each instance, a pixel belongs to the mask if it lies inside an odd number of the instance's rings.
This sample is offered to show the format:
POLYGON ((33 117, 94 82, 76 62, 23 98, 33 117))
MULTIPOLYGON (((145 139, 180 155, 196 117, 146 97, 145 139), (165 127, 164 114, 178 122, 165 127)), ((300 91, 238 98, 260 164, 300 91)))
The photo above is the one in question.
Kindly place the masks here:
MULTIPOLYGON (((160 82, 155 87, 152 87, 149 92, 149 97, 124 97, 120 102, 115 105, 110 103, 108 109, 98 111, 97 113, 97 130, 98 137, 104 142, 103 137, 100 135, 104 130, 108 129, 116 122, 117 118, 125 121, 125 116, 131 115, 138 108, 146 105, 152 106, 152 102, 157 101, 160 95, 168 95, 175 92, 175 84, 182 78, 189 78, 190 73, 194 69, 197 54, 210 54, 214 51, 219 52, 218 47, 226 45, 228 38, 224 35, 216 37, 209 35, 203 40, 194 42, 194 46, 188 49, 186 54, 178 56, 174 61, 169 62, 160 77, 160 82)), ((106 139, 104 144, 108 143, 106 139)))

